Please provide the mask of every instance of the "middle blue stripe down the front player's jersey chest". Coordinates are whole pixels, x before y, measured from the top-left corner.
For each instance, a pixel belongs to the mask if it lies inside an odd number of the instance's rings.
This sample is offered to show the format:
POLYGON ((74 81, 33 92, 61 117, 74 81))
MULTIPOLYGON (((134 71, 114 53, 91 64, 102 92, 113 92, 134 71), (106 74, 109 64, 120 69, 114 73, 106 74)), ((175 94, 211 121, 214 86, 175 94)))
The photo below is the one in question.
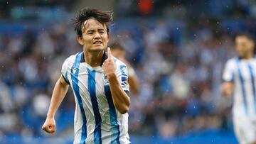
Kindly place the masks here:
POLYGON ((95 70, 88 71, 88 91, 90 92, 90 98, 92 101, 92 109, 95 115, 95 131, 94 131, 94 142, 95 143, 102 143, 102 135, 101 135, 101 117, 100 111, 97 103, 96 97, 96 82, 95 82, 95 70))

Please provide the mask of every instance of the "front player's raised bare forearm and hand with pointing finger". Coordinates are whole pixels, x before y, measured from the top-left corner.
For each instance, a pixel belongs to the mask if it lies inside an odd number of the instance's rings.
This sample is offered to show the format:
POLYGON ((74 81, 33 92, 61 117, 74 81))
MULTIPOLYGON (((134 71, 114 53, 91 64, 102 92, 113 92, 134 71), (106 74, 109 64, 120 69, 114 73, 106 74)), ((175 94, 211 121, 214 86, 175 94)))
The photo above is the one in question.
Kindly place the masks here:
POLYGON ((117 75, 115 74, 116 65, 112 58, 110 48, 107 48, 107 55, 108 58, 105 60, 105 62, 103 62, 102 68, 107 75, 107 79, 110 81, 110 91, 114 106, 120 113, 124 114, 129 110, 130 99, 122 89, 121 84, 117 79, 117 75))

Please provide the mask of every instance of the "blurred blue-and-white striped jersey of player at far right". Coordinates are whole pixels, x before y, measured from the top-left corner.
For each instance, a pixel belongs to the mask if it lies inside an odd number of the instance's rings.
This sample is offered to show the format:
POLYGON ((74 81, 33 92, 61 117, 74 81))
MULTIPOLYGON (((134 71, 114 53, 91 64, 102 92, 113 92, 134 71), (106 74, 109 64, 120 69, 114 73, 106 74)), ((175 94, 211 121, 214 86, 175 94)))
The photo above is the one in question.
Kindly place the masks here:
POLYGON ((223 80, 233 82, 233 114, 255 117, 256 114, 256 58, 234 57, 228 60, 223 80))

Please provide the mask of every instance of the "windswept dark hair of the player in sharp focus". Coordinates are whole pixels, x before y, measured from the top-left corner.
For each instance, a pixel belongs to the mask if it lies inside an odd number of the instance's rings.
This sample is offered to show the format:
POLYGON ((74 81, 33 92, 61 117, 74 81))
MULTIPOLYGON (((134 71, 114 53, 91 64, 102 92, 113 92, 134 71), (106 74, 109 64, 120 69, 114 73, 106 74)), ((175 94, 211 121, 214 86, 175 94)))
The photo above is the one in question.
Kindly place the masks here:
POLYGON ((83 8, 78 11, 73 19, 75 31, 79 36, 82 36, 82 26, 85 21, 90 18, 95 18, 97 21, 107 26, 107 33, 109 33, 109 23, 113 21, 112 11, 100 11, 97 9, 83 8))

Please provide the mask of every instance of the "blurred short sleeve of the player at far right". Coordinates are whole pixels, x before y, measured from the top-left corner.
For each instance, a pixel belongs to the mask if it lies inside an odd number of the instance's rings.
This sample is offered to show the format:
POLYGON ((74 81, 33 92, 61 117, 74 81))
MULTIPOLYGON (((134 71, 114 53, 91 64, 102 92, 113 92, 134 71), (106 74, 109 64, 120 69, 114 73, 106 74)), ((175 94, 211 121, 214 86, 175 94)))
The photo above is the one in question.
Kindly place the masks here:
POLYGON ((233 82, 234 81, 234 63, 232 60, 228 60, 225 64, 225 68, 223 71, 223 80, 225 82, 233 82))

